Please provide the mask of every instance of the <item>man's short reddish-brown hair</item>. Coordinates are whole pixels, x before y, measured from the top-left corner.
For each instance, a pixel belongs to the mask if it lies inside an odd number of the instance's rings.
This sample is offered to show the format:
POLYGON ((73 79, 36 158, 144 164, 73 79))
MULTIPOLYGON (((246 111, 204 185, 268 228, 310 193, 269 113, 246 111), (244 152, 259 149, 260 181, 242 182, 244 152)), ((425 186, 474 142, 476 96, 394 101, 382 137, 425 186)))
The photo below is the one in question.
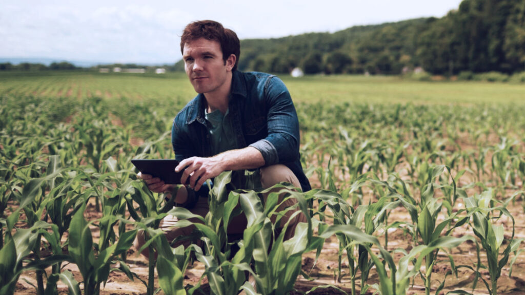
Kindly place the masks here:
POLYGON ((223 53, 223 60, 226 62, 230 55, 235 55, 235 65, 232 70, 237 69, 240 55, 240 42, 237 34, 233 30, 226 29, 220 23, 213 20, 199 20, 188 24, 181 37, 181 53, 184 51, 184 44, 199 38, 217 41, 223 53))

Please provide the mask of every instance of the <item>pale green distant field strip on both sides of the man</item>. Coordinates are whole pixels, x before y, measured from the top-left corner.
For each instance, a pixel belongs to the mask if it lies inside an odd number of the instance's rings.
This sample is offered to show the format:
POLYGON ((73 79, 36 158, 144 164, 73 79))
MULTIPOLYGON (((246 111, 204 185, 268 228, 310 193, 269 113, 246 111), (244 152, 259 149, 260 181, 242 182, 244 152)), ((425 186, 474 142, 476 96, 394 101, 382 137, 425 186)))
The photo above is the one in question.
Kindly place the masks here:
MULTIPOLYGON (((416 104, 524 103, 525 85, 477 81, 411 81, 384 76, 280 76, 297 102, 416 104)), ((1 94, 125 97, 189 101, 195 92, 184 73, 2 72, 1 94), (44 90, 46 90, 44 92, 44 90), (60 91, 62 89, 62 91, 60 91)))

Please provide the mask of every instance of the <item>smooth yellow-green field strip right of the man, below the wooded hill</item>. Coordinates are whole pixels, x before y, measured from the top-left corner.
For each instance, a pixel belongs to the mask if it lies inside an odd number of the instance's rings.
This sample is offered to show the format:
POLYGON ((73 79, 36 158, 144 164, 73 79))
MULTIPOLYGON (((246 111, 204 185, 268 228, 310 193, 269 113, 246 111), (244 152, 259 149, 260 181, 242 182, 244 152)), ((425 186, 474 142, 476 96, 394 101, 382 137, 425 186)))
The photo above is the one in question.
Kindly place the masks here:
POLYGON ((525 85, 411 81, 399 77, 282 77, 292 98, 306 102, 523 103, 525 85))

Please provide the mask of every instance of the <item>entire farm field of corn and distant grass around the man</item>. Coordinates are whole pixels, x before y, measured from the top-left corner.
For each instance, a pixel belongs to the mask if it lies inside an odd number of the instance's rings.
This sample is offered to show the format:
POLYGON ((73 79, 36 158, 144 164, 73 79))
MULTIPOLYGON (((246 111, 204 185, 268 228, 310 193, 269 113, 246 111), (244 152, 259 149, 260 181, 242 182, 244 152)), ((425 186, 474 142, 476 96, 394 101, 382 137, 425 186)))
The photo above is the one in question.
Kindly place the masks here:
POLYGON ((262 294, 525 294, 525 85, 282 79, 314 189, 275 189, 308 224, 282 241, 278 204, 219 185, 204 249, 184 250, 158 226, 187 212, 130 162, 173 157, 183 74, 0 73, 0 294, 249 293, 248 272, 262 294), (249 227, 227 240, 237 203, 249 227), (156 261, 132 249, 138 229, 156 261))

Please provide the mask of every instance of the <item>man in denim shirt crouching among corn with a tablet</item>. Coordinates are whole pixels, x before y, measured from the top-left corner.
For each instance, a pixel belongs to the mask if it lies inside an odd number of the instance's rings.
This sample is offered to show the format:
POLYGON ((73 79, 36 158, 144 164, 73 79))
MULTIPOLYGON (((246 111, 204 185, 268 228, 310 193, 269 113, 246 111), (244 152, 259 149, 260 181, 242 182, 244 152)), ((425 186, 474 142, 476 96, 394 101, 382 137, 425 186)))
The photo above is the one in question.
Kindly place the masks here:
MULTIPOLYGON (((296 110, 282 81, 266 73, 239 72, 237 35, 211 20, 186 26, 181 51, 186 74, 198 95, 173 121, 173 150, 180 162, 175 171, 183 171, 181 183, 189 182, 176 190, 175 204, 205 216, 209 208, 204 184, 224 171, 234 171, 237 188, 257 188, 243 187, 248 177, 244 171, 250 170, 255 173, 249 177, 258 178, 260 188, 288 182, 310 190, 300 163, 296 110)), ((174 192, 174 186, 159 178, 138 176, 153 192, 174 192)), ((279 209, 294 204, 290 199, 279 209)), ((281 226, 292 213, 281 219, 281 226)), ((305 220, 301 214, 294 218, 285 239, 293 235, 297 223, 305 220)), ((161 225, 169 240, 190 234, 189 227, 170 228, 174 221, 165 219, 161 225)), ((241 234, 246 217, 237 216, 231 224, 228 233, 241 234)))

